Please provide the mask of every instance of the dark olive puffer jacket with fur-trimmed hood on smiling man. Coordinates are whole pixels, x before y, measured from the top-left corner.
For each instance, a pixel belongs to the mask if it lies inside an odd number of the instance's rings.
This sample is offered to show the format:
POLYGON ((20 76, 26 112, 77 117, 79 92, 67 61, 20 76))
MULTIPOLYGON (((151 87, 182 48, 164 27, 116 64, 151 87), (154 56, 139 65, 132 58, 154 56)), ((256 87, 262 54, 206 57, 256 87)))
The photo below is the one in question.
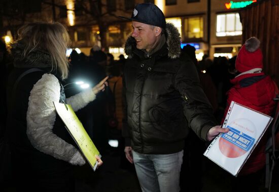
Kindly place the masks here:
POLYGON ((181 151, 189 127, 205 140, 216 125, 194 64, 180 59, 178 29, 167 23, 160 41, 166 43, 151 55, 132 37, 125 44, 122 135, 126 146, 145 154, 181 151))

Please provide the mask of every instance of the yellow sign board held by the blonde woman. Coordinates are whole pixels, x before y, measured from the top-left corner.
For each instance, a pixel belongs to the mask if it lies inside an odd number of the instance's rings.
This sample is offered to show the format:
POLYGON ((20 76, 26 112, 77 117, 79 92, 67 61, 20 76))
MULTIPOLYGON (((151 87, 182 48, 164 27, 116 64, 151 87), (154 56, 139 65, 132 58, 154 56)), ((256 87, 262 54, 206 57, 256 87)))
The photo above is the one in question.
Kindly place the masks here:
POLYGON ((71 105, 66 105, 63 103, 53 102, 53 104, 59 117, 66 125, 65 127, 68 130, 69 134, 71 134, 80 150, 84 154, 85 158, 87 159, 88 163, 95 171, 98 165, 95 155, 101 155, 90 139, 89 135, 86 133, 73 108, 71 107, 71 105))

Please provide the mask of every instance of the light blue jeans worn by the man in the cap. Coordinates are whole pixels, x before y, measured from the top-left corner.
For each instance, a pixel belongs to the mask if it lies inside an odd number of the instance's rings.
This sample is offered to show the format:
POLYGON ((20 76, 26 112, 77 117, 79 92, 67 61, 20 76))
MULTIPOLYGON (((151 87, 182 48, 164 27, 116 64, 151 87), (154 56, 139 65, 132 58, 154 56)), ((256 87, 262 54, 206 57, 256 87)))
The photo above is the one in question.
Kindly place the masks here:
POLYGON ((183 150, 172 154, 133 151, 133 162, 143 192, 179 192, 183 150))

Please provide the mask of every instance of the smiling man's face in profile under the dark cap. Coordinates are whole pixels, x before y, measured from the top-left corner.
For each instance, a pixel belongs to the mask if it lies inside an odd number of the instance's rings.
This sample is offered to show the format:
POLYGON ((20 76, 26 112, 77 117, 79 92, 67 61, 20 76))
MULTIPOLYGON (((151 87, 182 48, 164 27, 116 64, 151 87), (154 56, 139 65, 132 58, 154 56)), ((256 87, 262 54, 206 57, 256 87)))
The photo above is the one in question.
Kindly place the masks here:
POLYGON ((158 35, 155 33, 156 27, 137 21, 132 21, 132 28, 132 37, 135 39, 136 48, 150 51, 150 49, 155 46, 158 39, 158 35))

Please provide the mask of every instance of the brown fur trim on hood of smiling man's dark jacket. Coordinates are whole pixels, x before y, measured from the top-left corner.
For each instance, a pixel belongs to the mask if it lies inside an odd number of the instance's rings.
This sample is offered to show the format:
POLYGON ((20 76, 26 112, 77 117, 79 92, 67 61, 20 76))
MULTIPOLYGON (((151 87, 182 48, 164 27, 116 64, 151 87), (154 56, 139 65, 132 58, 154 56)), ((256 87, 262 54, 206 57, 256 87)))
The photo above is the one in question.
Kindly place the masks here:
MULTIPOLYGON (((166 23, 166 44, 169 58, 179 58, 181 53, 180 48, 180 34, 178 29, 172 23, 166 23)), ((125 43, 125 53, 129 58, 133 57, 133 49, 136 43, 132 36, 129 36, 125 43)))

